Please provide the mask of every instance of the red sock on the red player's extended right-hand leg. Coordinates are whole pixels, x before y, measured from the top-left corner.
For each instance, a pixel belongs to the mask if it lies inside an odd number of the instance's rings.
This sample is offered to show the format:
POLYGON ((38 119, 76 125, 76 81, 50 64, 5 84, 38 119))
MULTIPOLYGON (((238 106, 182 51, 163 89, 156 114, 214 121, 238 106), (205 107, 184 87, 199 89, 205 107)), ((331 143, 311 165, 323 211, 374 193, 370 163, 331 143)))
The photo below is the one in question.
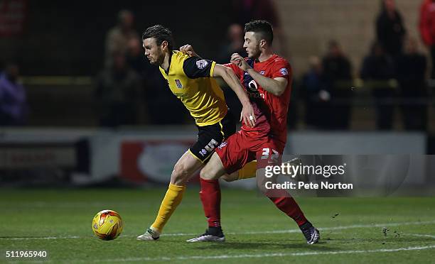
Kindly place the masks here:
POLYGON ((302 212, 301 208, 299 208, 299 205, 296 204, 296 201, 293 199, 293 197, 289 197, 289 194, 284 191, 283 189, 277 190, 274 189, 274 195, 267 195, 269 199, 280 209, 281 211, 284 211, 284 214, 290 216, 298 226, 301 226, 306 223, 306 218, 304 216, 304 213, 302 212), (276 192, 282 191, 282 194, 276 194, 276 192))

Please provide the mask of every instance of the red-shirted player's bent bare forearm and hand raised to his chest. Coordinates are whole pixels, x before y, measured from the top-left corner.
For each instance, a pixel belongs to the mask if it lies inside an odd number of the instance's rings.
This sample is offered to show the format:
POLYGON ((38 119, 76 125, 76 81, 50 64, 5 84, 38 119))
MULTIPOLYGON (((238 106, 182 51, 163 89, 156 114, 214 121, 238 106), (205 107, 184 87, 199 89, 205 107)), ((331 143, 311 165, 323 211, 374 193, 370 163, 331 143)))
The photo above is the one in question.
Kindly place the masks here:
POLYGON ((284 93, 287 87, 287 81, 284 77, 276 77, 274 79, 265 77, 263 75, 260 75, 259 72, 256 72, 254 69, 252 69, 251 66, 247 64, 245 59, 240 56, 237 53, 234 53, 231 56, 231 63, 237 65, 240 67, 240 69, 244 70, 245 72, 249 73, 251 77, 259 84, 263 89, 265 89, 267 92, 270 92, 277 97, 279 97, 281 94, 284 93))

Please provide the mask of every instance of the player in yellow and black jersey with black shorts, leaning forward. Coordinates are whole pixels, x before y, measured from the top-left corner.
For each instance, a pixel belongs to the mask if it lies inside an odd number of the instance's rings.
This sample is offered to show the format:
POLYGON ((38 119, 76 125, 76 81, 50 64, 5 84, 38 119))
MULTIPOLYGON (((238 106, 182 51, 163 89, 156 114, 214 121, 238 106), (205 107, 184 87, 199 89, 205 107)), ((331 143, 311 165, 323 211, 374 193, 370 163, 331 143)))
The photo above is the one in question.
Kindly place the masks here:
POLYGON ((242 84, 230 68, 173 50, 171 31, 160 25, 147 28, 142 40, 149 62, 159 66, 169 88, 190 111, 198 127, 198 141, 173 167, 171 182, 156 221, 137 237, 141 241, 154 241, 183 199, 188 179, 205 165, 222 141, 235 133, 232 114, 228 112, 222 89, 213 77, 222 77, 240 99, 243 106, 240 120, 254 127, 256 118, 242 84))

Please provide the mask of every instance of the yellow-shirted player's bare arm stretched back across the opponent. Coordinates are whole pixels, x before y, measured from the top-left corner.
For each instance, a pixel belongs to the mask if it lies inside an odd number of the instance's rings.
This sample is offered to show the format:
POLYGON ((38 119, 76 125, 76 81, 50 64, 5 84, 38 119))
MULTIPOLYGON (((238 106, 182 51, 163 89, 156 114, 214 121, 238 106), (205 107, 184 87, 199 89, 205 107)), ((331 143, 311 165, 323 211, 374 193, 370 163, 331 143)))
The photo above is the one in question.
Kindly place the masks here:
POLYGON ((243 106, 242 113, 240 114, 240 121, 243 119, 248 126, 255 126, 256 119, 254 109, 245 93, 245 89, 243 89, 239 79, 235 76, 235 73, 229 67, 216 64, 215 70, 213 71, 213 77, 222 77, 228 86, 235 92, 237 98, 239 98, 243 106))

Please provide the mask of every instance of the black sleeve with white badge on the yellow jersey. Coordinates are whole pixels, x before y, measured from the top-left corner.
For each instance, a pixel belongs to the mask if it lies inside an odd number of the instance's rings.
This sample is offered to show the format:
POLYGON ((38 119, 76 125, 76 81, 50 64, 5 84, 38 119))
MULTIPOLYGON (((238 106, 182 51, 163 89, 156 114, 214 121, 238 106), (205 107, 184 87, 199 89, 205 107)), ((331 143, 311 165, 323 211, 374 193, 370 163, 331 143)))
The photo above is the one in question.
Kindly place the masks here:
POLYGON ((200 57, 188 57, 183 62, 183 71, 190 79, 213 77, 216 62, 200 57))

